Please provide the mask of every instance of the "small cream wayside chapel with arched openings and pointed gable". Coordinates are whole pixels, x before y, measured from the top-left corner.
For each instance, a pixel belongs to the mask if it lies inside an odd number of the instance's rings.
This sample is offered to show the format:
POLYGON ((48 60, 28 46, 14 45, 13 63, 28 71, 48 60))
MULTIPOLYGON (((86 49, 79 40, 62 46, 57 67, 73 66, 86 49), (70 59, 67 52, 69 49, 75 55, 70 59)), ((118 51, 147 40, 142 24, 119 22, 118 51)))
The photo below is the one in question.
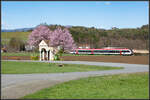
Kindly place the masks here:
POLYGON ((47 40, 42 40, 39 43, 39 52, 40 52, 40 61, 43 60, 48 60, 52 61, 54 60, 54 55, 58 52, 59 46, 58 47, 51 47, 49 45, 49 41, 47 40))

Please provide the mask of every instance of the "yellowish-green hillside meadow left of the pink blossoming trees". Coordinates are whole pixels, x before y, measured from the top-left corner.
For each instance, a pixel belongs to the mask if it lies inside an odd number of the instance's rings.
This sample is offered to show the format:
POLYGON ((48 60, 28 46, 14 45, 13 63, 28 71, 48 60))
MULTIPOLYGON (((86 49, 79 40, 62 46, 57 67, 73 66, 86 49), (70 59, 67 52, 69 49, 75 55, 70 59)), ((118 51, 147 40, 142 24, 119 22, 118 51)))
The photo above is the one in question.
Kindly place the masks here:
POLYGON ((26 41, 30 33, 31 32, 2 32, 1 42, 2 44, 8 44, 12 37, 20 38, 21 40, 26 41))

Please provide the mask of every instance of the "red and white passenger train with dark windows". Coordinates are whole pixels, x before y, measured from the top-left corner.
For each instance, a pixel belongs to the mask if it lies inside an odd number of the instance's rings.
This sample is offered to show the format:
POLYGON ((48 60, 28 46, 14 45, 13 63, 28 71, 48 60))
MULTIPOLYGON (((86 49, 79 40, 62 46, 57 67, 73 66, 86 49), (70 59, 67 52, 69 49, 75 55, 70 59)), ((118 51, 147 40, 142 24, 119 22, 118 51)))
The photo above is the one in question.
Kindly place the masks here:
POLYGON ((133 55, 128 48, 75 49, 72 54, 133 55))

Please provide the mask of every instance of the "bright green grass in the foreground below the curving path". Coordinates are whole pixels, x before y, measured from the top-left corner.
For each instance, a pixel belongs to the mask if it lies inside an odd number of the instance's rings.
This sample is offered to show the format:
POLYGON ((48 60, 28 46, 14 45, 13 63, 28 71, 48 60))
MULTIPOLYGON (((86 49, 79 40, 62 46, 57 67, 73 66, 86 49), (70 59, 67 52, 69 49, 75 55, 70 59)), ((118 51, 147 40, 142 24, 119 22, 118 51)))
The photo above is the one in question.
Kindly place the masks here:
POLYGON ((120 74, 72 80, 42 89, 24 99, 148 99, 149 74, 120 74))

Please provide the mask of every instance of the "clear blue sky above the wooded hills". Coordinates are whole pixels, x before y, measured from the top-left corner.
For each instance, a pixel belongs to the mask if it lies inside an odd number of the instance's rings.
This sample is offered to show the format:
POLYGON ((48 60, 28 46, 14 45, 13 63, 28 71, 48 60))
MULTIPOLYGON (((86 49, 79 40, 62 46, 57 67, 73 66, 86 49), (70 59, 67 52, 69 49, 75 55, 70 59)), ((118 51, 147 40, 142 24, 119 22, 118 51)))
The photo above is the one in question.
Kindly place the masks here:
POLYGON ((111 29, 149 22, 148 1, 2 1, 1 29, 41 23, 111 29))

